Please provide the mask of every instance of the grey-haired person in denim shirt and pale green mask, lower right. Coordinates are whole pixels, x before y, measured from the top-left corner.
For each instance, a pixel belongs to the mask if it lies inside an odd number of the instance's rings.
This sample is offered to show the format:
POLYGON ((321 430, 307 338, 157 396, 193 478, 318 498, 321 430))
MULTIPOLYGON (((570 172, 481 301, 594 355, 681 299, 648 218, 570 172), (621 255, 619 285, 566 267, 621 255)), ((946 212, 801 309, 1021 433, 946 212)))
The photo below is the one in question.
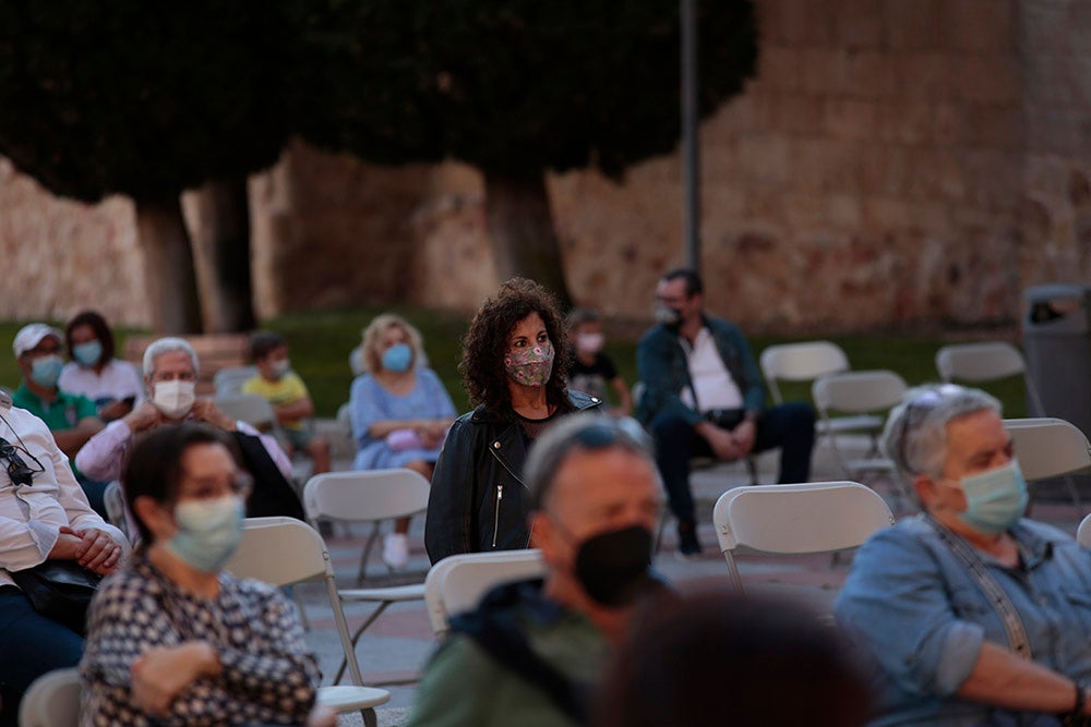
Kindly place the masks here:
POLYGON ((1022 517, 999 402, 914 389, 884 446, 923 512, 872 536, 835 607, 872 667, 871 724, 1088 724, 1091 552, 1022 517))

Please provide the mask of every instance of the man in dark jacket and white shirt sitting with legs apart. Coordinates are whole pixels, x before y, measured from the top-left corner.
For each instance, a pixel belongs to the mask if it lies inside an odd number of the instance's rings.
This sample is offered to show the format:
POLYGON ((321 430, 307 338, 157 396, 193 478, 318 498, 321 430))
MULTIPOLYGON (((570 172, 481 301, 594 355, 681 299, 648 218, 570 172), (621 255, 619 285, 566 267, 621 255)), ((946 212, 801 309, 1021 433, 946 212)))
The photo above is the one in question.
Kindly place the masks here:
POLYGON ((693 270, 668 272, 656 287, 659 325, 636 350, 644 395, 636 416, 656 440, 656 463, 679 520, 679 553, 700 553, 690 492, 690 460, 735 460, 781 448, 781 483, 806 482, 814 411, 790 402, 765 409, 765 384, 738 327, 705 315, 693 270))

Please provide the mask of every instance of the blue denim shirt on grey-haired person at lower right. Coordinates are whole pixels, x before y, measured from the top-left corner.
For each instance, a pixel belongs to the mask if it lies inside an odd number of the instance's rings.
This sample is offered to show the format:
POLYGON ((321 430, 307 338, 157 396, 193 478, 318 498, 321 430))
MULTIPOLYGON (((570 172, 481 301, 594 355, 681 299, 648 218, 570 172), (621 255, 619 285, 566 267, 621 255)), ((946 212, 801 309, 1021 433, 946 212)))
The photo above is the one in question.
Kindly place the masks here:
MULTIPOLYGON (((1034 662, 1091 677, 1091 552, 1032 520, 1009 531, 1021 566, 976 552, 1007 593, 1034 662)), ((856 554, 835 605, 838 625, 874 680, 872 725, 1059 724, 957 696, 983 640, 1010 649, 996 610, 923 516, 879 531, 856 554)))

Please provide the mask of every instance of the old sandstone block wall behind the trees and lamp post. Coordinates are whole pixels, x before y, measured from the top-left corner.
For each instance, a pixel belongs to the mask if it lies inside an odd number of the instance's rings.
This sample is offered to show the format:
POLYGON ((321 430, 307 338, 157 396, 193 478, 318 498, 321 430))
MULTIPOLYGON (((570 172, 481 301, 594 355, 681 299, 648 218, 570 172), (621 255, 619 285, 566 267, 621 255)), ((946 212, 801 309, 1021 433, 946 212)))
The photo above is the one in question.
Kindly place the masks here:
MULTIPOLYGON (((1088 280, 1091 3, 756 5, 758 73, 700 132, 711 311, 798 332, 1009 322, 1024 288, 1088 280)), ((679 156, 549 189, 575 299, 647 318, 683 262, 679 156)), ((461 165, 383 169, 293 144, 251 202, 261 315, 472 310, 499 283, 482 180, 461 165)), ((20 281, 0 290, 4 317, 101 295, 111 318, 146 320, 123 201, 53 201, 0 166, 0 250, 20 281)))

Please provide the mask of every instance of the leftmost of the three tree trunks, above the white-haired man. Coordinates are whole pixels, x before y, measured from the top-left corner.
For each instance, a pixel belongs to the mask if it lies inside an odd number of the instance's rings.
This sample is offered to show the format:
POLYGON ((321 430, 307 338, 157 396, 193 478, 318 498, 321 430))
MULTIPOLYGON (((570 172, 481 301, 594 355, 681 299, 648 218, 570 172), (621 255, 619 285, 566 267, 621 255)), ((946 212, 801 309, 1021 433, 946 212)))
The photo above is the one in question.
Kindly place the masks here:
POLYGON ((136 235, 144 251, 144 276, 152 325, 158 334, 201 332, 193 254, 181 202, 136 202, 136 235))

